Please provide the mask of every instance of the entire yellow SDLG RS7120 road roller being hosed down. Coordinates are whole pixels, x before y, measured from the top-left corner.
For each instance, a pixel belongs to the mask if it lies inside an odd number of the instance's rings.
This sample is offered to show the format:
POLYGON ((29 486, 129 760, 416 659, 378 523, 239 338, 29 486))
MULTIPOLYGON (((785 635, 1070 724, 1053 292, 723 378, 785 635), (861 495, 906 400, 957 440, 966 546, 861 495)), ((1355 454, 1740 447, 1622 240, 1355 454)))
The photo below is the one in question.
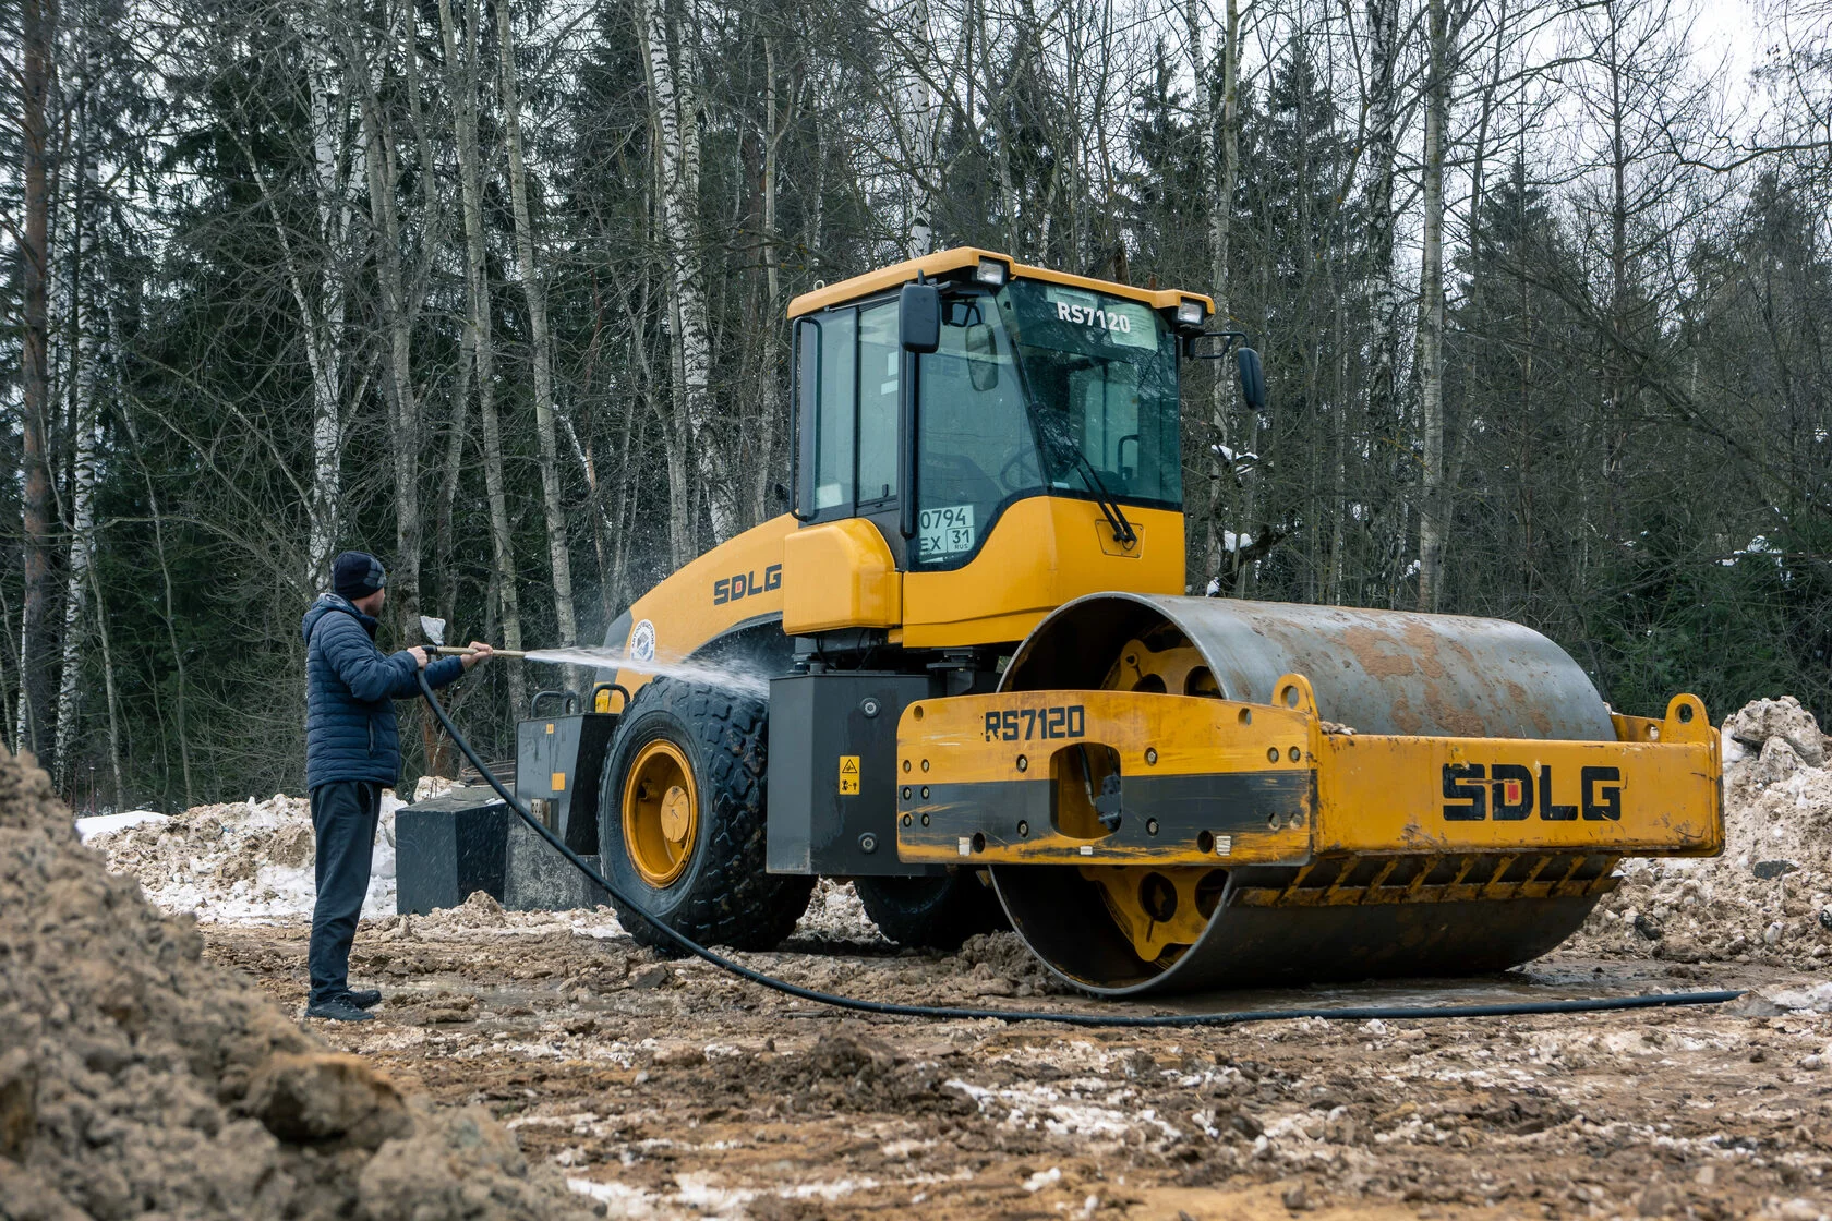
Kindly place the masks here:
POLYGON ((1110 996, 1500 970, 1623 857, 1718 853, 1695 696, 1616 714, 1493 619, 1185 597, 1211 317, 978 249, 795 298, 790 511, 610 626, 520 794, 696 941, 845 877, 892 941, 1009 924, 1110 996))

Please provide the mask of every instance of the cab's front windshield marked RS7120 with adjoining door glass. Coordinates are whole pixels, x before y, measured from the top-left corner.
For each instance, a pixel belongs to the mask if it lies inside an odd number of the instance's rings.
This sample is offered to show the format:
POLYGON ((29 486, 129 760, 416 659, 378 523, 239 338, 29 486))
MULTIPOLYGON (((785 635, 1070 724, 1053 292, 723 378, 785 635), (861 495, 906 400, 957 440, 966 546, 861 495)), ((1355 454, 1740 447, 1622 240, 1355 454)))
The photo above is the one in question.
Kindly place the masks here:
POLYGON ((943 298, 918 383, 918 564, 1035 494, 1178 507, 1176 339, 1150 306, 1013 280, 943 298))

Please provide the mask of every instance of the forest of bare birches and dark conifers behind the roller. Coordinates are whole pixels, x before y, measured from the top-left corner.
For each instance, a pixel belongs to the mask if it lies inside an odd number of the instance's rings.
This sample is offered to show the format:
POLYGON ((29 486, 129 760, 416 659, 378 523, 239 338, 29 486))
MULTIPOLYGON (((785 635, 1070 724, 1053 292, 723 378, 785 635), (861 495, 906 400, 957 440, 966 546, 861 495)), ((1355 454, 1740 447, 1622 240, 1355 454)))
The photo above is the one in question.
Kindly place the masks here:
POLYGON ((782 511, 790 297, 956 243, 1260 348, 1264 412, 1187 366, 1193 593, 1832 712, 1827 0, 0 0, 0 734, 82 807, 297 791, 344 547, 385 644, 601 641, 782 511))

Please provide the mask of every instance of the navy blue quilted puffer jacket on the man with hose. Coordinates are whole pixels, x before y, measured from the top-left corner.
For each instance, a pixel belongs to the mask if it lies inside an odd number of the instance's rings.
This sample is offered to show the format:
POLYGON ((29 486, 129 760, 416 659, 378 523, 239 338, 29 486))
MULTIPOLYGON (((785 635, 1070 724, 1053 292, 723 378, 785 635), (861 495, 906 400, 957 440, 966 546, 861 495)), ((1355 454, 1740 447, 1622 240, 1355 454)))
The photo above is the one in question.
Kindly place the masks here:
MULTIPOLYGON (((306 611, 306 787, 332 780, 392 785, 401 778, 394 701, 420 694, 414 655, 376 648, 376 621, 335 593, 306 611)), ((427 665, 427 683, 445 686, 463 661, 427 665)))

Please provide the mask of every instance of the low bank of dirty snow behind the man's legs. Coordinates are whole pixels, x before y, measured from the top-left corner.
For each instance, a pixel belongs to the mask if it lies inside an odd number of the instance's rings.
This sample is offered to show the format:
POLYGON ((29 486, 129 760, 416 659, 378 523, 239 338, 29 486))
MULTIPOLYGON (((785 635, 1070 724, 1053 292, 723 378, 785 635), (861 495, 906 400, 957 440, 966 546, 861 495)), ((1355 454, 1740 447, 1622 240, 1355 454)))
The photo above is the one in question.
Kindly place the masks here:
MULTIPOLYGON (((403 802, 381 796, 376 857, 363 915, 394 913, 394 811, 403 802)), ((130 815, 112 815, 128 820, 130 815)), ((93 826, 82 818, 82 840, 108 868, 139 879, 147 899, 163 912, 194 913, 209 923, 306 919, 313 882, 311 804, 275 794, 224 805, 196 805, 181 815, 93 826)))

